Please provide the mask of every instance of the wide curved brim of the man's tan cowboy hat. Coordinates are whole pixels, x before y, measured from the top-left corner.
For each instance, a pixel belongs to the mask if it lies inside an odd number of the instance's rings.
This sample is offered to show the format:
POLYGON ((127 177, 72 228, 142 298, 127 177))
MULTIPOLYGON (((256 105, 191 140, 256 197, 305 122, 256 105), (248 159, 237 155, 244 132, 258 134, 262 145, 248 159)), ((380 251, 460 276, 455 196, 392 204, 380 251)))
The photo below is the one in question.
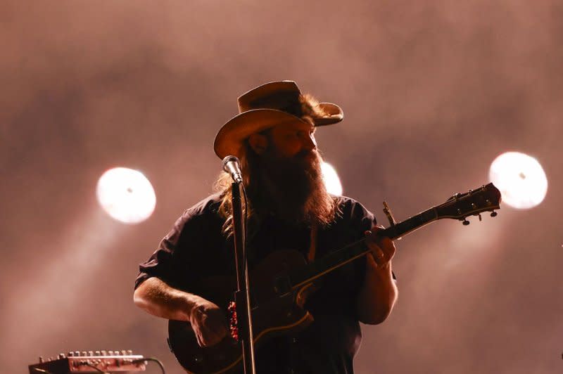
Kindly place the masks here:
MULTIPOLYGON (((329 114, 327 117, 314 118, 315 127, 335 124, 343 120, 344 115, 341 108, 336 104, 320 103, 322 109, 329 114)), ((213 149, 215 154, 221 159, 229 155, 241 157, 241 147, 248 136, 270 129, 280 124, 290 124, 295 122, 303 122, 309 124, 299 117, 290 115, 276 109, 253 109, 242 112, 232 117, 226 124, 221 127, 215 136, 213 149)))

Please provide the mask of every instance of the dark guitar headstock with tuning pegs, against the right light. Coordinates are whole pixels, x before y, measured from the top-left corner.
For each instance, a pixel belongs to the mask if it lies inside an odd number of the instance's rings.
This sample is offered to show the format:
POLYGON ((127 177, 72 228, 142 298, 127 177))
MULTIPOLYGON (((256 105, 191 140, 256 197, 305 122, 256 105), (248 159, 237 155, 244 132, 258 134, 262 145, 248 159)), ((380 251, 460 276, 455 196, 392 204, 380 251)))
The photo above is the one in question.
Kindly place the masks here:
POLYGON ((497 215, 495 209, 500 209, 500 191, 493 183, 488 183, 466 193, 456 193, 435 209, 438 219, 459 219, 464 225, 468 225, 466 218, 469 216, 479 216, 481 221, 482 212, 491 212, 491 217, 497 215))

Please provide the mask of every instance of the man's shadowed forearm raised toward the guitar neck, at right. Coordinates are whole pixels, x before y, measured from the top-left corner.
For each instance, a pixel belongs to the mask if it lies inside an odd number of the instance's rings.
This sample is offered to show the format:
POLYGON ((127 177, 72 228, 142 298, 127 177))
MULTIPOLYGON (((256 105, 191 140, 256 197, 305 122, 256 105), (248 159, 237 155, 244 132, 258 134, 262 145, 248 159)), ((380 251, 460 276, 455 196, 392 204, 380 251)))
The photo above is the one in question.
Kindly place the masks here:
POLYGON ((391 313, 398 296, 397 286, 391 273, 391 262, 377 266, 371 254, 367 254, 365 281, 357 299, 358 317, 363 323, 377 324, 391 313))

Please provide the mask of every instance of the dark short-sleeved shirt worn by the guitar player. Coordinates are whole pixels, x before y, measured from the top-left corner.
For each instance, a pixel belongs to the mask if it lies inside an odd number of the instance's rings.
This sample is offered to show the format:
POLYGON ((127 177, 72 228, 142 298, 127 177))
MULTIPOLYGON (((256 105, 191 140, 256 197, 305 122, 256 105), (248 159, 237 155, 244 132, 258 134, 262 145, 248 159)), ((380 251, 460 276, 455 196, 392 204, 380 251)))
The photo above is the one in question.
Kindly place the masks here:
MULTIPOLYGON (((336 198, 340 212, 329 226, 319 228, 315 258, 341 249, 363 237, 376 223, 374 215, 359 202, 336 198)), ((211 195, 186 209, 156 252, 139 266, 135 288, 150 277, 180 290, 197 294, 196 285, 214 276, 235 276, 232 236, 222 231, 220 195, 211 195)), ((249 231, 249 269, 277 250, 310 250, 310 228, 288 224, 277 217, 263 218, 249 231)), ((356 298, 365 276, 365 257, 329 272, 305 309, 315 321, 300 333, 275 337, 255 352, 257 373, 353 373, 353 356, 362 339, 356 298)), ((251 287, 252 287, 252 279, 251 287)))

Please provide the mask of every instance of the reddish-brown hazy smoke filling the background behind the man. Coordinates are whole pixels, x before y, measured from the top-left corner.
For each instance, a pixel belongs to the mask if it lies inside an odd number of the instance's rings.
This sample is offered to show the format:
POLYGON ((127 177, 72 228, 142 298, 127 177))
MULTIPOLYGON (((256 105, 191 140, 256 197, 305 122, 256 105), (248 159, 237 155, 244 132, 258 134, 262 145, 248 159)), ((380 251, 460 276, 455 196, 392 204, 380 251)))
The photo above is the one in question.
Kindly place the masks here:
POLYGON ((400 299, 365 327, 356 371, 554 372, 562 13, 548 0, 4 1, 3 370, 97 347, 179 373, 165 322, 132 305, 137 263, 210 191, 211 144, 236 97, 294 79, 343 108, 317 140, 346 193, 380 219, 381 200, 404 219, 486 183, 506 150, 536 157, 550 183, 536 209, 438 222, 398 243, 400 299), (96 180, 115 166, 141 170, 157 193, 151 220, 127 230, 92 213, 96 180))

